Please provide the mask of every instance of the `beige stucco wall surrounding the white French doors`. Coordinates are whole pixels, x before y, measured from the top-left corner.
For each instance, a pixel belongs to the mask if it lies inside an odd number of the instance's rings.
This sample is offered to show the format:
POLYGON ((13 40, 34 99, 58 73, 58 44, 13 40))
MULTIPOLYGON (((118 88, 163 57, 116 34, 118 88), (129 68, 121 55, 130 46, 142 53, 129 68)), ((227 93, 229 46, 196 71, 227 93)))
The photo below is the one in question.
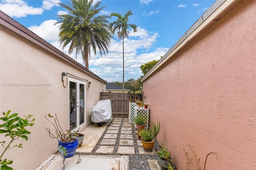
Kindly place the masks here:
MULTIPOLYGON (((99 92, 106 89, 106 84, 88 76, 80 69, 71 66, 45 49, 24 39, 18 34, 0 27, 0 84, 2 83, 51 83, 50 87, 3 87, 0 86, 0 111, 12 109, 20 116, 34 115, 36 119, 28 141, 23 148, 8 150, 4 158, 14 161, 12 167, 19 170, 36 168, 48 156, 57 151, 58 141, 48 136, 46 127, 50 126, 45 115, 57 113, 62 128, 69 127, 68 122, 68 87, 62 85, 62 72, 69 72, 77 77, 92 82, 86 91, 86 126, 90 125, 89 113, 99 101, 99 92), (102 89, 103 87, 103 89, 102 89)), ((85 136, 86 137, 86 136, 85 136)), ((1 141, 6 140, 1 135, 1 141)), ((1 151, 3 147, 0 148, 1 151)))

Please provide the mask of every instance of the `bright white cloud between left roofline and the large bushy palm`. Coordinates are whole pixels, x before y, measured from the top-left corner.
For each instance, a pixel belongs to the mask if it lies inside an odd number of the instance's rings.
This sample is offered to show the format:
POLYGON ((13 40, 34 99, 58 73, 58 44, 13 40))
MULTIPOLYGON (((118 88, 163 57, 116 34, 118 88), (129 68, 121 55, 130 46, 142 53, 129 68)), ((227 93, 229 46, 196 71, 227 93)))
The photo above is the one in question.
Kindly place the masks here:
POLYGON ((48 42, 54 42, 59 40, 59 28, 54 26, 56 20, 46 20, 40 24, 40 26, 30 26, 28 29, 43 38, 48 42))

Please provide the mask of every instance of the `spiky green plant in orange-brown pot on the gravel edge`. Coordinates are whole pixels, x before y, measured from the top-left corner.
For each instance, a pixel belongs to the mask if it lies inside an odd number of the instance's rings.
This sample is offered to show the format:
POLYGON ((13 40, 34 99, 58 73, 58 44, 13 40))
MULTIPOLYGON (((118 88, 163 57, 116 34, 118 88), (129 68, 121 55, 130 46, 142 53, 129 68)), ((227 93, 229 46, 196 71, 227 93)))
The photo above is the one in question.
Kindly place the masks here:
MULTIPOLYGON (((162 124, 163 125, 163 124, 162 124)), ((162 125, 160 122, 152 123, 152 128, 140 130, 139 136, 142 138, 142 146, 145 152, 152 152, 156 140, 156 136, 160 132, 162 125)))

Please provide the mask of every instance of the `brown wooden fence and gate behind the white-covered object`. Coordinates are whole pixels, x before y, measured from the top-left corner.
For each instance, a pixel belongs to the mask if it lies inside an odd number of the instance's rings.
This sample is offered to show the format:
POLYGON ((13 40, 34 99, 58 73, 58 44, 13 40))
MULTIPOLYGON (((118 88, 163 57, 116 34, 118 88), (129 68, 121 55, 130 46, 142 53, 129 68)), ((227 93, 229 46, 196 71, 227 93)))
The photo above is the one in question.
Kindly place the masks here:
POLYGON ((129 93, 100 92, 100 100, 110 99, 112 117, 128 118, 129 93))

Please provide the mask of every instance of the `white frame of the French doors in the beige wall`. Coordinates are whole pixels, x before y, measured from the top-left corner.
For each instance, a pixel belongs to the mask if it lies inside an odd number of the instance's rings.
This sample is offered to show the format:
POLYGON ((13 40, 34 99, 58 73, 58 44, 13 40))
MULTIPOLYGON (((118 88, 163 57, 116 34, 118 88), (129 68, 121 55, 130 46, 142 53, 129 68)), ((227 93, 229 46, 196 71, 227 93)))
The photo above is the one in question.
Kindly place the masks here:
POLYGON ((86 90, 87 90, 87 87, 86 87, 86 82, 85 81, 82 81, 82 80, 79 80, 79 79, 75 79, 75 78, 72 78, 72 77, 68 77, 68 127, 70 128, 70 105, 69 105, 69 100, 70 100, 70 88, 69 88, 69 84, 70 84, 70 81, 71 82, 74 82, 76 83, 76 101, 78 101, 76 103, 76 128, 72 129, 72 130, 78 130, 79 128, 82 128, 84 126, 86 126, 86 90), (83 84, 84 85, 84 123, 82 123, 81 125, 79 125, 79 122, 80 122, 80 114, 79 114, 79 109, 77 108, 80 108, 80 87, 79 85, 80 84, 83 84), (79 106, 79 107, 77 107, 79 106))

